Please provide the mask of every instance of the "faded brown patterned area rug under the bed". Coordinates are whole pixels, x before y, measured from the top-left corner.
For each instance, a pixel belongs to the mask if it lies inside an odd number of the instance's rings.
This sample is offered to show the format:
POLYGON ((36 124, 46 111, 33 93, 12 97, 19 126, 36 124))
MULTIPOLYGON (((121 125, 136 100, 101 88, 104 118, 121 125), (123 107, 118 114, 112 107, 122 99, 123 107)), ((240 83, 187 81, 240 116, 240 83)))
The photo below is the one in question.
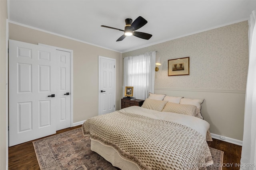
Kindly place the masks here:
MULTIPOLYGON (((34 141, 34 149, 41 170, 117 170, 90 147, 89 137, 82 129, 74 129, 34 141)), ((210 148, 214 165, 222 165, 221 150, 210 148)), ((221 170, 210 166, 207 170, 221 170)))

